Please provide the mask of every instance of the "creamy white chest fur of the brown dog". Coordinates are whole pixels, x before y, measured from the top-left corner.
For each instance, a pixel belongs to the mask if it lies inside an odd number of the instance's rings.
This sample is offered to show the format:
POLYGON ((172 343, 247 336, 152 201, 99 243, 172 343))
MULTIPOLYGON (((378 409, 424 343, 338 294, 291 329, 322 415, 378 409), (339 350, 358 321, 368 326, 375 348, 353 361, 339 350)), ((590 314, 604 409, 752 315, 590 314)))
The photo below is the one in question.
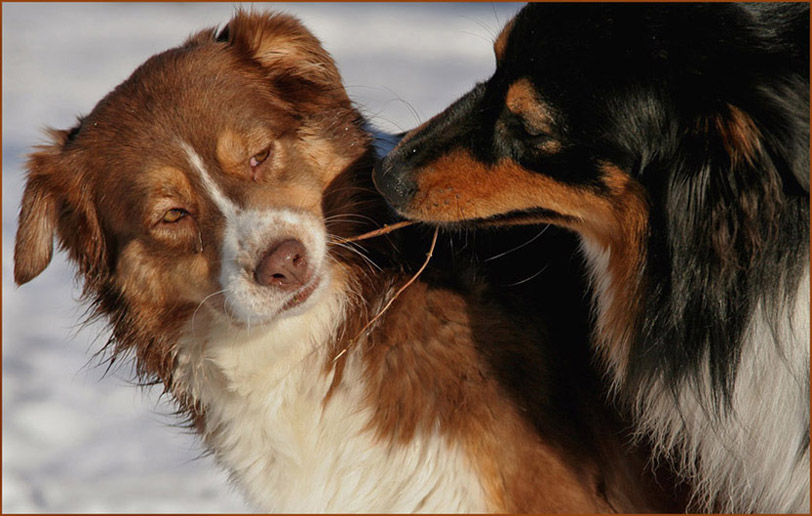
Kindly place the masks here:
POLYGON ((306 314, 251 331, 211 326, 205 341, 182 343, 177 378, 206 407, 204 439, 218 461, 263 511, 487 510, 459 446, 436 434, 390 443, 368 428, 375 393, 359 352, 324 403, 325 343, 342 299, 333 288, 306 314))

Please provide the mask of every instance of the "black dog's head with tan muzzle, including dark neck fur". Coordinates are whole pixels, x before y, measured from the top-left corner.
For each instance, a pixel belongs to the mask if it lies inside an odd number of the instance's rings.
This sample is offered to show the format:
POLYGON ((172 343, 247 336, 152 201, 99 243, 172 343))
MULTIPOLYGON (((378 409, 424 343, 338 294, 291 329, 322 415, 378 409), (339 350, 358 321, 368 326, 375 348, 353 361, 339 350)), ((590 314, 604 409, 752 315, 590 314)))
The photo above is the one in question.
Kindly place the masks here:
POLYGON ((598 288, 646 299, 604 314, 611 340, 689 342, 693 361, 719 346, 725 383, 738 351, 716 343, 738 341, 770 271, 808 255, 808 19, 805 4, 528 5, 493 76, 407 134, 376 184, 409 218, 577 231, 611 257, 598 288))

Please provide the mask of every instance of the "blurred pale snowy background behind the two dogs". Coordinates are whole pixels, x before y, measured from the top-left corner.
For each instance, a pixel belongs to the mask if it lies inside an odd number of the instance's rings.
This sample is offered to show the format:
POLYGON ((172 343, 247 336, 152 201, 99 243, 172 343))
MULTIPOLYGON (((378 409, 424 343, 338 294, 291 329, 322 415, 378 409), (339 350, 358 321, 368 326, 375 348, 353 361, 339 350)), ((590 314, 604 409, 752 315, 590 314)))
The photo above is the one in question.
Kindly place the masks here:
MULTIPOLYGON (((2 512, 246 512, 159 391, 105 376, 99 327, 80 327, 62 255, 13 284, 22 162, 45 126, 76 115, 150 55, 222 25, 238 4, 36 4, 3 8, 2 512)), ((254 4, 298 15, 380 128, 408 129, 493 69, 518 4, 254 4)))

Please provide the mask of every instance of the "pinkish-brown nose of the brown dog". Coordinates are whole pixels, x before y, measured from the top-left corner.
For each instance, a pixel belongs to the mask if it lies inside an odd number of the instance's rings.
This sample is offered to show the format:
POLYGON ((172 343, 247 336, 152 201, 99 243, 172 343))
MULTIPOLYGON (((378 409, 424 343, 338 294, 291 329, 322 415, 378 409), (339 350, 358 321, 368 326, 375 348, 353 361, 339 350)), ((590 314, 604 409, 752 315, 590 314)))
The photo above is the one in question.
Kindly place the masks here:
POLYGON ((296 290, 306 285, 311 276, 307 251, 298 240, 272 245, 254 271, 257 283, 282 290, 296 290))

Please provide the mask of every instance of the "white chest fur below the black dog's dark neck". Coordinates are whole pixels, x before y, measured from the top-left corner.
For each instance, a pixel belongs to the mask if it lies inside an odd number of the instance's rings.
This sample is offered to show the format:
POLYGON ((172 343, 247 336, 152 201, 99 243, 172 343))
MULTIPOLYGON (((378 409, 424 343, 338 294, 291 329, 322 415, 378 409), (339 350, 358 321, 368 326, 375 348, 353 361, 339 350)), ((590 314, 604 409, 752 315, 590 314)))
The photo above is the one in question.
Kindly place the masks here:
MULTIPOLYGON (((582 249, 593 277, 600 334, 601 314, 613 302, 610 255, 586 239, 582 249)), ((712 398, 707 369, 696 385, 682 390, 679 407, 665 385, 638 393, 640 432, 653 437, 660 453, 679 461, 707 509, 715 501, 724 511, 809 513, 809 450, 798 449, 799 438, 809 431, 808 268, 794 303, 784 307, 777 335, 759 303, 747 330, 730 416, 709 414, 700 403, 712 398)), ((612 343, 599 340, 598 345, 612 343)), ((609 366, 617 386, 623 364, 609 366)))

